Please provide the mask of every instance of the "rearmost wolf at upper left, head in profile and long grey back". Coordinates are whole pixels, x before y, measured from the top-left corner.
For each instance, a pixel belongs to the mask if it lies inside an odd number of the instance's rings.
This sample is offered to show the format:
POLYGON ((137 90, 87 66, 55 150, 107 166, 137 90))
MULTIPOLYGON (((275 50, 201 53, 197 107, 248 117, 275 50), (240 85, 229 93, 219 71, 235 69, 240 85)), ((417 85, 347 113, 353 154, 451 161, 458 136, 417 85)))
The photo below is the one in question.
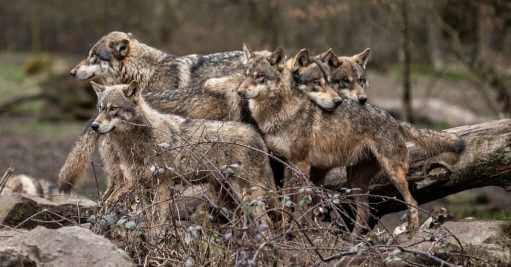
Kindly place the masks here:
POLYGON ((106 85, 137 80, 148 93, 241 73, 242 59, 240 51, 175 56, 148 46, 131 33, 111 32, 91 44, 86 58, 71 70, 71 75, 83 81, 102 79, 106 85))

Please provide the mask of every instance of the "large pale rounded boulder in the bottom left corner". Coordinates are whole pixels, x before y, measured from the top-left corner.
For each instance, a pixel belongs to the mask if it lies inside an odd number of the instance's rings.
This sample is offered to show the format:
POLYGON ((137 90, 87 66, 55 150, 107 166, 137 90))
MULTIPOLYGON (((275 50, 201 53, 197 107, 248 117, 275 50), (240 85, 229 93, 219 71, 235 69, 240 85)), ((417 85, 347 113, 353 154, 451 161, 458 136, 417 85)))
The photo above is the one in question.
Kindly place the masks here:
POLYGON ((0 242, 0 266, 135 266, 108 239, 78 227, 33 230, 0 242), (37 265, 36 265, 37 264, 37 265))

